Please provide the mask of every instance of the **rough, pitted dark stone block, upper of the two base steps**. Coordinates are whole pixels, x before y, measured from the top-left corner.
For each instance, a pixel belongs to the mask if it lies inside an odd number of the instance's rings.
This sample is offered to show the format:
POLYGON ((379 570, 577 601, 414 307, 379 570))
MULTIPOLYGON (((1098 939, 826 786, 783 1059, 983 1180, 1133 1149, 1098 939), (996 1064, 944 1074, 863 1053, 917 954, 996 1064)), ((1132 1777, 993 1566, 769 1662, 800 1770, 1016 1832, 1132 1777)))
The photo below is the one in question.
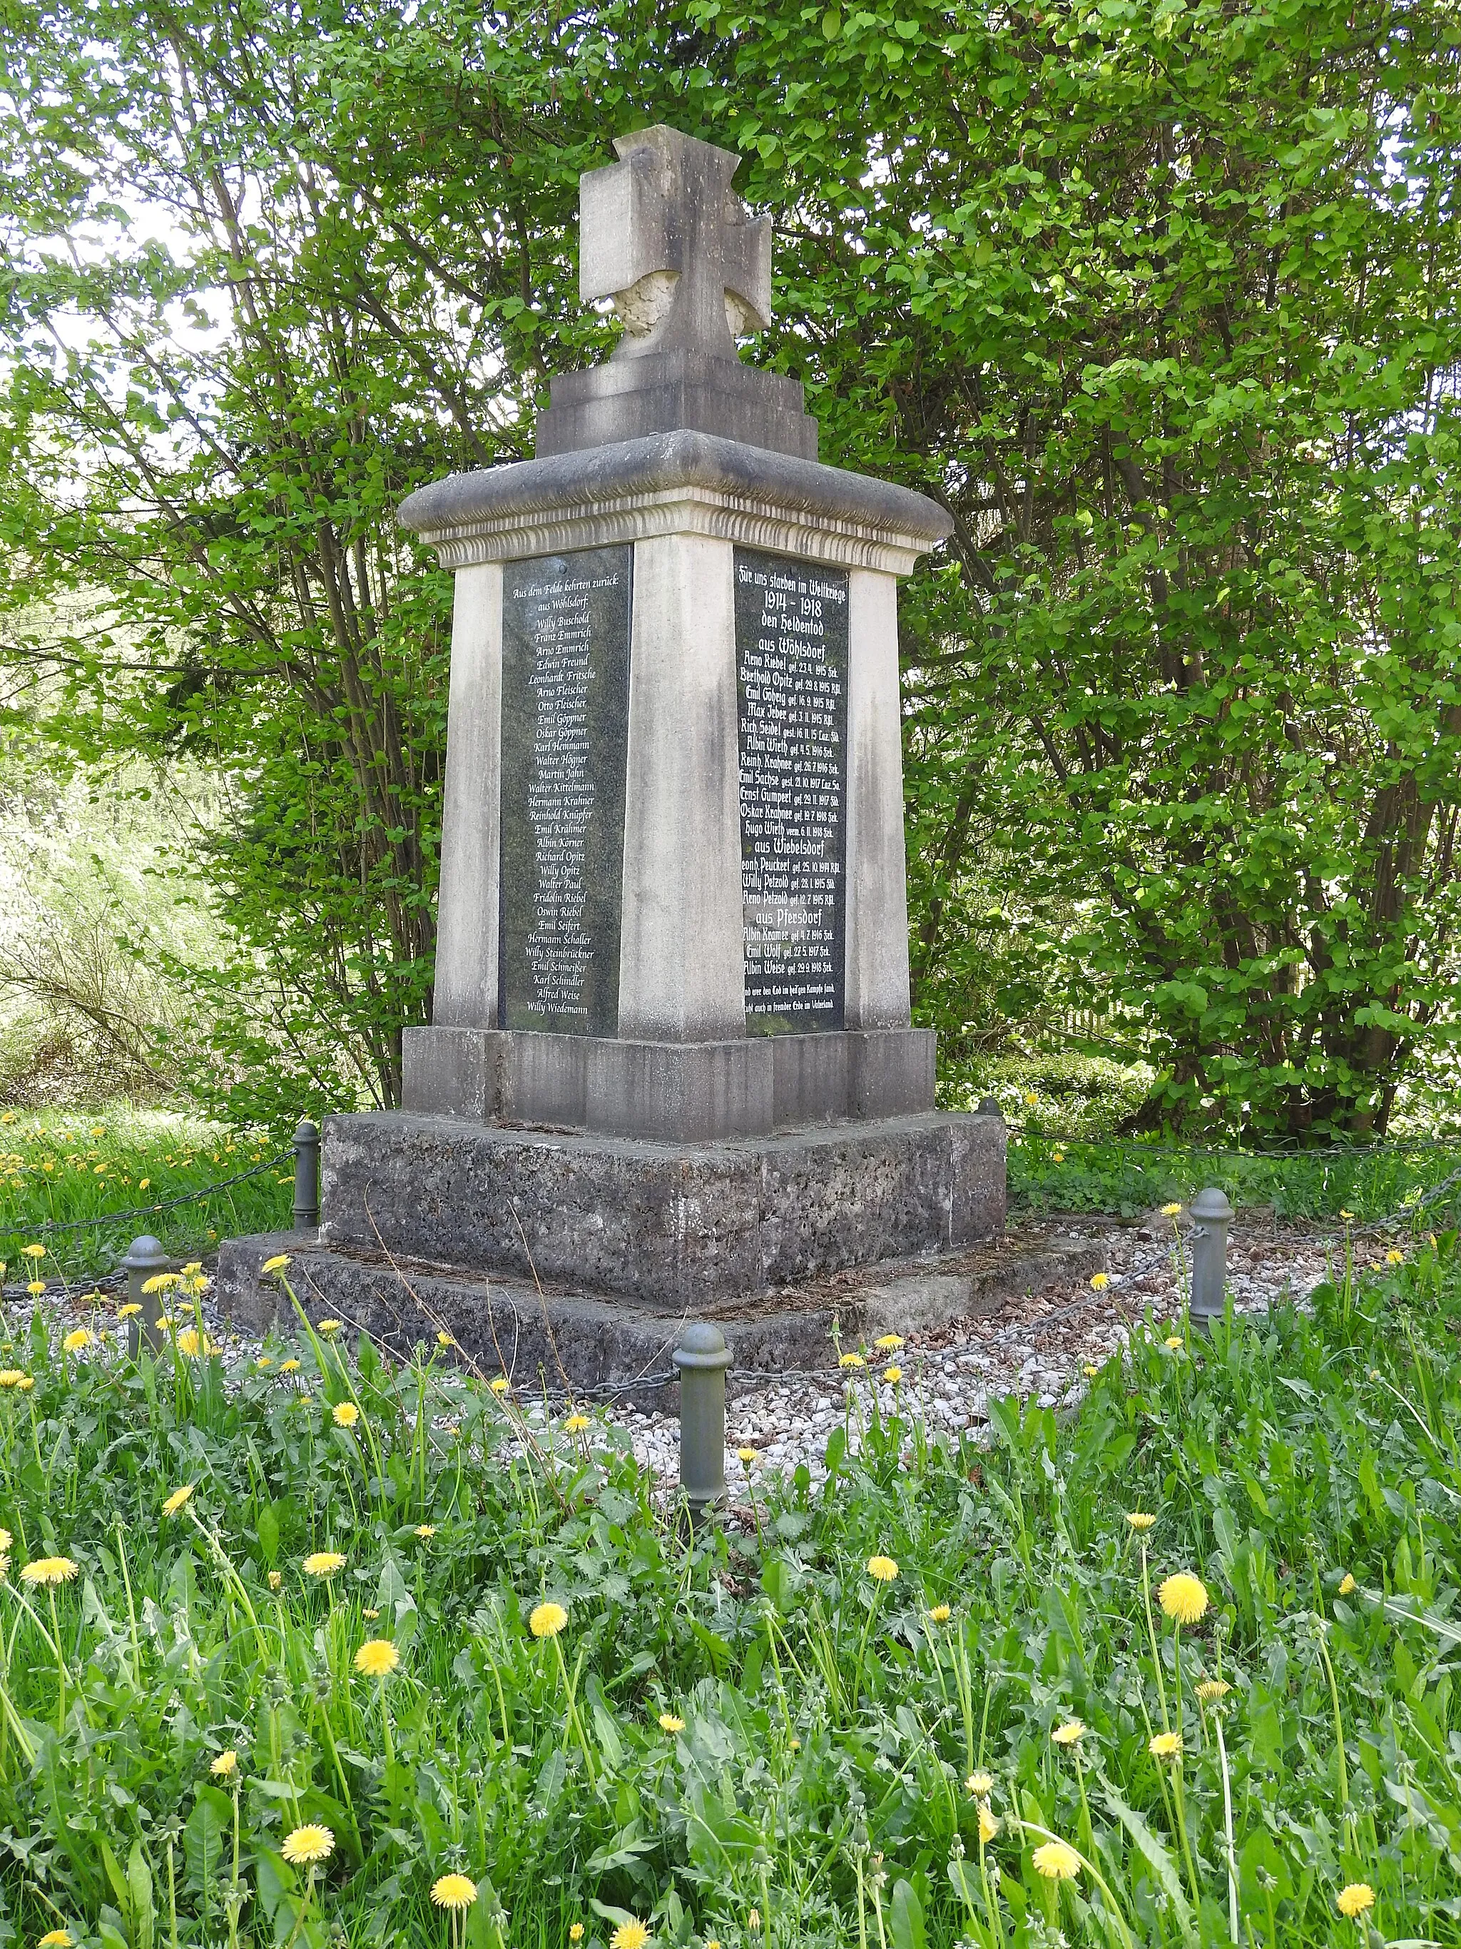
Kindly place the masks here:
POLYGON ((703 1306, 990 1238, 997 1117, 660 1146, 450 1117, 329 1117, 329 1243, 703 1306))

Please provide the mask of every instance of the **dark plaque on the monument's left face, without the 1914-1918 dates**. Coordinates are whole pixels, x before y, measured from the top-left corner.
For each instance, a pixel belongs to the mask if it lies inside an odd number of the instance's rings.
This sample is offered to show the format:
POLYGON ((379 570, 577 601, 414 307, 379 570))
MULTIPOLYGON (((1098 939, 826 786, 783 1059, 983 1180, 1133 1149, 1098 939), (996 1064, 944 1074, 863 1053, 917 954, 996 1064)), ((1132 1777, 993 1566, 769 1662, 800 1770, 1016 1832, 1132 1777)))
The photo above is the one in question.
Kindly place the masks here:
POLYGON ((503 569, 506 1029, 616 1035, 629 548, 503 569))

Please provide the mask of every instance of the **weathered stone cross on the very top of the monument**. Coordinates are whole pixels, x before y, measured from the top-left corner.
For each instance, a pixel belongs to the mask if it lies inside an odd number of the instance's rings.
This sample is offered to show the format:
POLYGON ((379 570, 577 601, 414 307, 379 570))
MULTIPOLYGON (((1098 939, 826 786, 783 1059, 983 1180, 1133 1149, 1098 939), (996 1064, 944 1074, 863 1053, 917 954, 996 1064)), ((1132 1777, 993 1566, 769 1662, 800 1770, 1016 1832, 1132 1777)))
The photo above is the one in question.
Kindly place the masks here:
POLYGON ((614 298, 614 359, 736 359, 736 335, 771 322, 771 222, 730 189, 740 156, 662 125, 614 148, 619 162, 579 179, 579 290, 614 298))

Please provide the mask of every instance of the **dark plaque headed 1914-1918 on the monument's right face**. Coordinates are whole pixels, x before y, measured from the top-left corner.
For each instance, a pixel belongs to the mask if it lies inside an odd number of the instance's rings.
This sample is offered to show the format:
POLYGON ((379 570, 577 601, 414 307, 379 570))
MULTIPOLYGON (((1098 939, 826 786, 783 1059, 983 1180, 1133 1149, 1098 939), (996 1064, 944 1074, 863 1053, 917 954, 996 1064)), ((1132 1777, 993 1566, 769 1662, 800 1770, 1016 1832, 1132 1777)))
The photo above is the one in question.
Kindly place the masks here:
POLYGON ((736 550, 746 1031, 843 1025, 847 575, 736 550))

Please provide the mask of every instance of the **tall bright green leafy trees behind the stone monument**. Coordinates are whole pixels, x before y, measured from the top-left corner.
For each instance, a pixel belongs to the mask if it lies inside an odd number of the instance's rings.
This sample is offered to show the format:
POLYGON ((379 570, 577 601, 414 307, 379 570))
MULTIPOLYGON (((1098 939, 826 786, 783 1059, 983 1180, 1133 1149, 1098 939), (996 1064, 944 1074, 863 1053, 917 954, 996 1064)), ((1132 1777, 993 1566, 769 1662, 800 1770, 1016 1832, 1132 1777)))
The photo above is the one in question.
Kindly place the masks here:
POLYGON ((904 602, 923 1015, 964 1054, 1105 1010, 1153 1119, 1286 1136, 1383 1130, 1449 1060, 1443 0, 10 19, 0 538, 16 602, 99 606, 8 661, 86 756, 228 772, 216 994, 265 1025, 226 1088, 273 1052, 294 1099, 397 1093, 446 581, 390 511, 526 454, 604 347, 573 185, 653 119, 775 212, 756 357, 824 456, 956 520, 904 602))

